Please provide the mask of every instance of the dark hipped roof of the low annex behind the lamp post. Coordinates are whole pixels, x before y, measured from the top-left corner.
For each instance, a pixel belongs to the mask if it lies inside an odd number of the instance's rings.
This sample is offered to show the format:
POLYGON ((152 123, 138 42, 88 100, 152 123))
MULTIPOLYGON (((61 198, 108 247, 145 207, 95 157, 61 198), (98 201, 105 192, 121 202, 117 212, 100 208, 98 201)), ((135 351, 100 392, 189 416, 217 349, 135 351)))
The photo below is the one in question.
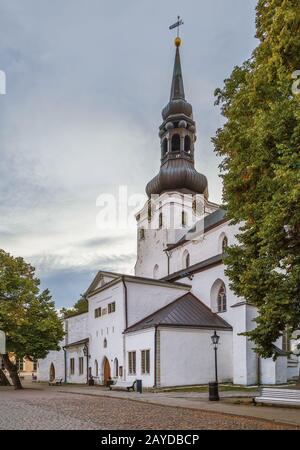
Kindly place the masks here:
POLYGON ((158 325, 232 330, 232 327, 225 320, 213 313, 191 293, 183 295, 140 322, 131 325, 125 330, 125 333, 158 325))

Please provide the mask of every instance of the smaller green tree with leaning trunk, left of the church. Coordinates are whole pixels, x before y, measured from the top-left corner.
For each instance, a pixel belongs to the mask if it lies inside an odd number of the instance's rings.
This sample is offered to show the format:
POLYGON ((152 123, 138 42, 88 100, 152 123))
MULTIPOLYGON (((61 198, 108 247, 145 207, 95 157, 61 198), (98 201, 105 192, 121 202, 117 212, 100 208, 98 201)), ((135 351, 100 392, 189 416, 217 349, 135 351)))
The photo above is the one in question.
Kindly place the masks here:
POLYGON ((44 358, 49 350, 58 350, 64 331, 48 290, 40 291, 35 269, 23 258, 14 258, 0 250, 0 329, 6 333, 5 368, 16 389, 22 385, 17 358, 44 358))

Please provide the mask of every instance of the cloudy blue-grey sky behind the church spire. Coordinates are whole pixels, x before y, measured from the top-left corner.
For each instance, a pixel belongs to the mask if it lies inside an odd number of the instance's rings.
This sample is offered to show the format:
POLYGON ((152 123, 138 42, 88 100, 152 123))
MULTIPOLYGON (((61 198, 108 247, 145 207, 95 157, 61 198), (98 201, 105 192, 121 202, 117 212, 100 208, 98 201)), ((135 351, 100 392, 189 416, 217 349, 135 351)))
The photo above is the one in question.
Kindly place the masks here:
POLYGON ((178 14, 196 168, 221 202, 214 90, 256 46, 255 4, 0 0, 0 248, 36 268, 58 308, 98 270, 133 273, 134 227, 103 229, 97 218, 103 194, 145 194, 158 172, 178 14))

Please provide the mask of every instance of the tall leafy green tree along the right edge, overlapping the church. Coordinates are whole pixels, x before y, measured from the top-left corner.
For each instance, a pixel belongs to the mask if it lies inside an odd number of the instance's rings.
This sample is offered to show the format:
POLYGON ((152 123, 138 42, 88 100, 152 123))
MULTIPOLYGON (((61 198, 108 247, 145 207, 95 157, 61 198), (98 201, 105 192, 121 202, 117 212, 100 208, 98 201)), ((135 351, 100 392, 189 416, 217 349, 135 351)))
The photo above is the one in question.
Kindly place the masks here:
POLYGON ((276 358, 272 343, 300 325, 299 0, 259 0, 256 29, 252 57, 215 92, 226 121, 213 142, 228 217, 242 223, 226 273, 258 309, 247 333, 256 351, 276 358))

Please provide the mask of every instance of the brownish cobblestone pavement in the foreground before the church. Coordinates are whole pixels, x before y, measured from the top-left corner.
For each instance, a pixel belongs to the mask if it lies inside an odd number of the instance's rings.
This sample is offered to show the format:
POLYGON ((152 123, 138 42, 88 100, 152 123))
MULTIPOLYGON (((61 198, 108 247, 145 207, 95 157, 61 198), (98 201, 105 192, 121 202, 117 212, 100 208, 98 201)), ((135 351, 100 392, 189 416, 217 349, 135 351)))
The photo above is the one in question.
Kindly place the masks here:
POLYGON ((0 429, 293 429, 226 414, 61 393, 51 389, 0 392, 0 429))

